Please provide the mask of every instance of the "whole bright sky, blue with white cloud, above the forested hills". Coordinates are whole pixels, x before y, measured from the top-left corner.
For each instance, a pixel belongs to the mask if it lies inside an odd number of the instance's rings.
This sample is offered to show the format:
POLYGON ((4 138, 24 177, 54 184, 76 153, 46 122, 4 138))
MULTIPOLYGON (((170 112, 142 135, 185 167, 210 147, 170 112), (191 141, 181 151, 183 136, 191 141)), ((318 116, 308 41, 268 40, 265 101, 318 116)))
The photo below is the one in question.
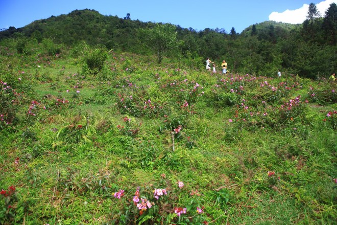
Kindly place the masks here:
POLYGON ((147 22, 168 22, 183 28, 232 27, 242 32, 250 25, 266 20, 302 23, 310 3, 318 6, 322 16, 337 0, 0 0, 0 29, 24 27, 34 20, 68 14, 76 9, 94 9, 103 15, 147 22))

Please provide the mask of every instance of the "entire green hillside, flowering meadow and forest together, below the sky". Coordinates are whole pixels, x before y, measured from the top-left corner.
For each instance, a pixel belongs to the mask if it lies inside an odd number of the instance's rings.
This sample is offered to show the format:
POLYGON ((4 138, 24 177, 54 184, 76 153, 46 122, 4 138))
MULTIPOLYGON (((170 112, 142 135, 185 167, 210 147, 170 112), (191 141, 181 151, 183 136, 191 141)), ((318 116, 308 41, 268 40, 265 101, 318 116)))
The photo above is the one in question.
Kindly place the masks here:
POLYGON ((335 224, 334 9, 240 34, 94 10, 0 32, 0 224, 335 224))

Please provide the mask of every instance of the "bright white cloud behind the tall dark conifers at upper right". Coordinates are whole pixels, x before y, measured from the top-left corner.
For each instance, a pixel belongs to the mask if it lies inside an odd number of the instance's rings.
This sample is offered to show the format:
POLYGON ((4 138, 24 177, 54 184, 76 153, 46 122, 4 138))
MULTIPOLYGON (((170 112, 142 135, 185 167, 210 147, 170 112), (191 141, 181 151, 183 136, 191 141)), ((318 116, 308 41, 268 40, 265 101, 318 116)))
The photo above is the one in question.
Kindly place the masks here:
MULTIPOLYGON (((329 8, 331 3, 337 3, 336 0, 325 0, 316 4, 317 10, 324 16, 325 11, 329 8)), ((302 24, 308 14, 309 5, 303 4, 299 9, 285 10, 284 12, 272 12, 269 15, 269 20, 277 22, 287 22, 288 24, 302 24)))

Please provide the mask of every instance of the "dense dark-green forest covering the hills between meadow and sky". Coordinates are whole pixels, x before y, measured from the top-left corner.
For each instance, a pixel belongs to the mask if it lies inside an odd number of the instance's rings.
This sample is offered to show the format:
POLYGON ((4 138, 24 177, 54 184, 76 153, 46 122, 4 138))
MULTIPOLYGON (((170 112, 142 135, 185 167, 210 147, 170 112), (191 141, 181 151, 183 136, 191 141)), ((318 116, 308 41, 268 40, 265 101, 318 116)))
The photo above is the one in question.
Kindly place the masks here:
POLYGON ((171 29, 158 32, 172 35, 165 34, 155 40, 155 34, 152 39, 144 39, 144 34, 164 26, 161 23, 132 20, 129 13, 119 18, 85 9, 36 20, 23 28, 2 29, 0 43, 25 54, 33 54, 36 44, 57 45, 50 54, 60 54, 84 41, 113 51, 158 54, 159 62, 164 54, 195 69, 202 69, 205 58, 210 57, 219 64, 225 59, 230 72, 275 76, 277 70, 281 70, 284 74, 315 79, 328 77, 336 70, 336 15, 334 3, 323 16, 311 3, 307 19, 299 25, 264 21, 242 33, 237 33, 235 28, 230 32, 219 28, 196 31, 169 25, 166 28, 171 29), (171 42, 163 46, 167 38, 171 38, 171 42), (157 46, 156 41, 160 42, 157 46))

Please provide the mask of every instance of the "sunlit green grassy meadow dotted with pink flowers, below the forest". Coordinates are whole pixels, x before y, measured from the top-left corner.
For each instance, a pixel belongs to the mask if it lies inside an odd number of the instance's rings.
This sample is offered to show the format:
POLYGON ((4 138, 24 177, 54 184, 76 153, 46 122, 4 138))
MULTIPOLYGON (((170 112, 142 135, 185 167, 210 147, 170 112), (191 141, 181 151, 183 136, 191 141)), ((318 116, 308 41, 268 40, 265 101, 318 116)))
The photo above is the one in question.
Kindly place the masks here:
POLYGON ((335 82, 34 51, 0 47, 1 224, 336 224, 335 82))

